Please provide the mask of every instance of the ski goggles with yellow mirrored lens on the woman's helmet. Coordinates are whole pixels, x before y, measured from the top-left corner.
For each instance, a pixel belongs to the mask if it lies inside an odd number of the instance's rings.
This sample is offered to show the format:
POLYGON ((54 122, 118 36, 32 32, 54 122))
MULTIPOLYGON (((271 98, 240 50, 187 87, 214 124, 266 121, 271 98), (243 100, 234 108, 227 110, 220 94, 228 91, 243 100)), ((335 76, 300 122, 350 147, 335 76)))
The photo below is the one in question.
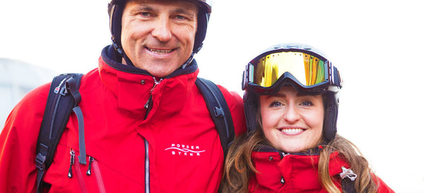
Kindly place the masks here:
POLYGON ((284 82, 294 82, 309 94, 341 88, 340 75, 331 62, 312 51, 291 48, 268 51, 250 61, 243 73, 242 89, 272 94, 284 82))

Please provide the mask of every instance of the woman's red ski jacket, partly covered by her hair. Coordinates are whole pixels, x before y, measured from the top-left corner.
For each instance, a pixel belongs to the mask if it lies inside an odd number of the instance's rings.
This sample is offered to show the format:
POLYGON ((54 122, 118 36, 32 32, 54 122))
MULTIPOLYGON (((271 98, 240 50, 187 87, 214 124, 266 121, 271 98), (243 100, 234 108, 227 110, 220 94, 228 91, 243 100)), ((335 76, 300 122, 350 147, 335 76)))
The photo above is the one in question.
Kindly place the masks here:
MULTIPOLYGON (((319 183, 319 156, 288 154, 278 151, 254 151, 252 160, 259 171, 249 180, 249 192, 326 192, 319 183)), ((330 156, 329 174, 341 190, 341 167, 350 168, 337 152, 330 156)), ((355 171, 353 171, 355 172, 355 171)), ((378 192, 394 192, 380 178, 378 192)))

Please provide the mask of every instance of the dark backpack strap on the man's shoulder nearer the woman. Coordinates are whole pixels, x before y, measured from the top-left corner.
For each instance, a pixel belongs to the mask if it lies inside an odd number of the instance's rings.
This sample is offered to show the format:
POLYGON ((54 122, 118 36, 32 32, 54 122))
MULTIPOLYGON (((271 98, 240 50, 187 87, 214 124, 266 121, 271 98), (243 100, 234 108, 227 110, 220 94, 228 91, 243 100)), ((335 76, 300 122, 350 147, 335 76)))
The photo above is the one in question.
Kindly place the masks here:
POLYGON ((235 136, 230 108, 228 108, 227 101, 225 101, 222 92, 213 82, 197 77, 195 83, 204 96, 206 106, 218 130, 225 158, 227 156, 228 147, 232 144, 235 136))

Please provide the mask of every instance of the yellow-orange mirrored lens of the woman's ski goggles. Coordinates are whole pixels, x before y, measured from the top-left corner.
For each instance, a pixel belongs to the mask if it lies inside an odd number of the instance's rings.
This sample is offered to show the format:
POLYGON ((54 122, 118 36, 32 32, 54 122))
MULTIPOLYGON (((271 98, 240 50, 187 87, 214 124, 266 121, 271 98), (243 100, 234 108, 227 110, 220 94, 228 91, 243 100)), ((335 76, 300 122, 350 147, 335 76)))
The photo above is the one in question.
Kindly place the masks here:
POLYGON ((300 84, 317 85, 326 80, 328 65, 325 61, 301 52, 279 52, 266 55, 254 64, 253 83, 271 87, 281 75, 288 72, 300 84))

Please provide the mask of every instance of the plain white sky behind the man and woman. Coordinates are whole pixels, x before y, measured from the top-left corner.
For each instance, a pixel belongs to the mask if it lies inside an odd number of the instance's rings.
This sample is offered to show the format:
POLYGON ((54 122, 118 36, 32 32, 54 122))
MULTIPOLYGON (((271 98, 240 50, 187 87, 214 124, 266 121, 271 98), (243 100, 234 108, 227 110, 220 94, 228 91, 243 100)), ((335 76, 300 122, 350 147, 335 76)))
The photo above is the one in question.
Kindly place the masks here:
MULTIPOLYGON (((1 1, 0 58, 86 73, 110 44, 107 0, 1 1)), ((424 192, 423 7, 408 0, 215 0, 195 58, 201 77, 242 94, 242 70, 261 50, 280 42, 321 49, 344 80, 339 134, 396 192, 424 192)))

